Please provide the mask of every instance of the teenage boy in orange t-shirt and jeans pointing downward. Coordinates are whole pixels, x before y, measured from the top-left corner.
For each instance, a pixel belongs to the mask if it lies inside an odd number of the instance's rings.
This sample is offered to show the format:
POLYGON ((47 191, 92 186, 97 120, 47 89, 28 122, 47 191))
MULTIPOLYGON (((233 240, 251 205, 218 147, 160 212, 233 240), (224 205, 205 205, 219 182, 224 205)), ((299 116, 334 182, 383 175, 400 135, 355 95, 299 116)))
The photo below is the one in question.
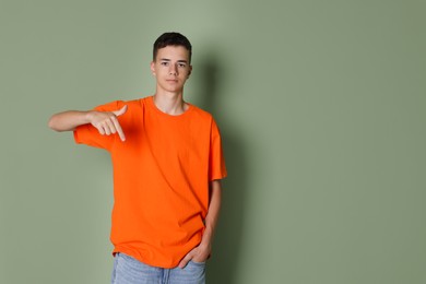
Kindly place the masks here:
POLYGON ((111 155, 111 283, 205 283, 226 176, 221 135, 210 114, 184 100, 189 40, 165 33, 153 51, 153 96, 59 113, 49 127, 111 155))

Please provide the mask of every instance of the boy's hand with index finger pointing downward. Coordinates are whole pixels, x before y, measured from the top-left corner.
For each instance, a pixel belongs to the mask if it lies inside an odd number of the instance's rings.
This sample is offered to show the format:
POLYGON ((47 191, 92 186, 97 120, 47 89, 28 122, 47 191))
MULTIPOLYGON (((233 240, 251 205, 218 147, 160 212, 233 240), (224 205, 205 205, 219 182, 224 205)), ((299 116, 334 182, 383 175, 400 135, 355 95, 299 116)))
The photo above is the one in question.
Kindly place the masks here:
POLYGON ((120 123, 118 122, 117 117, 122 116, 127 111, 127 105, 125 105, 119 110, 115 111, 90 111, 88 119, 100 134, 115 134, 118 133, 121 141, 126 140, 125 132, 121 129, 120 123))

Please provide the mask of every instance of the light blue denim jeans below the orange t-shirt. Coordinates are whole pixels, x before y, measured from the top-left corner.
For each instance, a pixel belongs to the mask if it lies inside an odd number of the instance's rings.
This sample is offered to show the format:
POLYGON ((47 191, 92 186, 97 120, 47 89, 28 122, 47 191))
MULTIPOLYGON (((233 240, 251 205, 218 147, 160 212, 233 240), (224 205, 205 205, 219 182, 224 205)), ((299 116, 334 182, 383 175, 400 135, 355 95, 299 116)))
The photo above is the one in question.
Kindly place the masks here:
POLYGON ((204 284, 205 263, 189 261, 184 269, 155 268, 116 253, 111 284, 204 284))

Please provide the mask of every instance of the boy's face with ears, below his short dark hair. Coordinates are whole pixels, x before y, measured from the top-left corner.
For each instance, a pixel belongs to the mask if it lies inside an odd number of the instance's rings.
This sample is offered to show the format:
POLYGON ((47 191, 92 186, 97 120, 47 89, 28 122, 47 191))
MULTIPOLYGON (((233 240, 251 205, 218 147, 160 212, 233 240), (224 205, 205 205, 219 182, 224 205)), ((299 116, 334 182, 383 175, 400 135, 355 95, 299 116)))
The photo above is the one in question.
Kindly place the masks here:
POLYGON ((181 93, 191 73, 189 51, 184 46, 166 46, 158 49, 151 71, 157 81, 157 93, 181 93))

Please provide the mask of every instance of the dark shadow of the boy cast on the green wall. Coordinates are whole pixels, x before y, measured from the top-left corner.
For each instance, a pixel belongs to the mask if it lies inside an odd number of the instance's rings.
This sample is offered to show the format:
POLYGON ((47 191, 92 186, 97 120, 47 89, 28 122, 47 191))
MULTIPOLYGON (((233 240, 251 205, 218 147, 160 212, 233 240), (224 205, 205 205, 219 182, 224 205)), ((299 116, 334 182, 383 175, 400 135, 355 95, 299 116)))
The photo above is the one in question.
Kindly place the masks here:
MULTIPOLYGON (((221 218, 213 246, 213 257, 209 260, 206 283, 235 283, 235 273, 240 259, 242 225, 245 224, 245 189, 247 188, 245 147, 242 141, 235 135, 232 121, 221 121, 221 106, 217 92, 224 64, 215 54, 208 54, 200 62, 202 74, 202 94, 200 107, 211 113, 221 129, 228 177, 223 181, 223 203, 221 218)), ((225 99, 226 102, 226 99, 225 99)))

